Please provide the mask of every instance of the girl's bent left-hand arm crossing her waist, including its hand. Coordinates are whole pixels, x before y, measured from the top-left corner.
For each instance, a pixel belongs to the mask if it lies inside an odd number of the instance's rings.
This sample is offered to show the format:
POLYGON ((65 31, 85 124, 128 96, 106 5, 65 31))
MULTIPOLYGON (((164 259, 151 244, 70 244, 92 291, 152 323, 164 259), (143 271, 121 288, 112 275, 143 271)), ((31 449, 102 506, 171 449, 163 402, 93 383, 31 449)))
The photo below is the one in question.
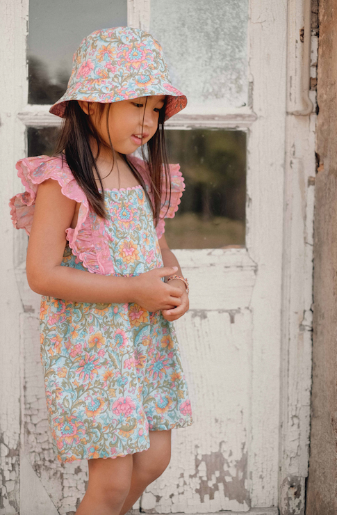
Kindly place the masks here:
POLYGON ((61 266, 65 230, 72 223, 75 206, 55 180, 39 185, 26 259, 27 280, 34 292, 76 302, 136 302, 149 311, 181 304, 181 289, 161 280, 175 273, 172 267, 116 277, 61 266))

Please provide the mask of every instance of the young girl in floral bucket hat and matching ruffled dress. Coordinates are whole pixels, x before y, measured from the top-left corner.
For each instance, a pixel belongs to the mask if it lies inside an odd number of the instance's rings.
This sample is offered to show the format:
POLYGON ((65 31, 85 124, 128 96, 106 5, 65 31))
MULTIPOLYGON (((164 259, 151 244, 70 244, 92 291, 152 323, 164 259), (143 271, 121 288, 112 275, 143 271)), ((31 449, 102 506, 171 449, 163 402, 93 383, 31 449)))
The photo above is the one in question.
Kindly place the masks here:
POLYGON ((10 206, 42 294, 54 448, 89 464, 77 515, 124 515, 169 464, 171 429, 192 423, 172 324, 188 310, 188 281, 163 234, 184 189, 163 124, 186 103, 149 33, 96 31, 51 107, 65 118, 54 157, 17 163, 26 191, 10 206))

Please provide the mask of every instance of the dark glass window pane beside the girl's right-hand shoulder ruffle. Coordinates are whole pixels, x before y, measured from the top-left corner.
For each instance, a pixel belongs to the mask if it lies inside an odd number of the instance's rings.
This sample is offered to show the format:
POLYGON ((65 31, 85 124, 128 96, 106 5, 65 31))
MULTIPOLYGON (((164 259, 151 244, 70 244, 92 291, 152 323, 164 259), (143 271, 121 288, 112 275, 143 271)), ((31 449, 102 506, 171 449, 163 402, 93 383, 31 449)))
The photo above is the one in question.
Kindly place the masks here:
POLYGON ((171 248, 245 245, 246 134, 231 130, 167 130, 170 163, 186 182, 174 219, 165 220, 171 248))

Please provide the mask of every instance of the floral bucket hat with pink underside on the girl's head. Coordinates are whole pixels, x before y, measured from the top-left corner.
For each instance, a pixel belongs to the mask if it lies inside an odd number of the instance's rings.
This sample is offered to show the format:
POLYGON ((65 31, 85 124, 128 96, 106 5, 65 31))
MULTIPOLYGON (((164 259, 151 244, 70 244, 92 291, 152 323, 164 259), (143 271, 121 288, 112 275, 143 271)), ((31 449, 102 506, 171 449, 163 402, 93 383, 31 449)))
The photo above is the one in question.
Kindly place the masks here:
POLYGON ((151 34, 131 27, 95 31, 74 54, 67 91, 51 113, 63 118, 69 100, 120 102, 167 95, 165 120, 186 107, 187 98, 171 84, 163 49, 151 34))

